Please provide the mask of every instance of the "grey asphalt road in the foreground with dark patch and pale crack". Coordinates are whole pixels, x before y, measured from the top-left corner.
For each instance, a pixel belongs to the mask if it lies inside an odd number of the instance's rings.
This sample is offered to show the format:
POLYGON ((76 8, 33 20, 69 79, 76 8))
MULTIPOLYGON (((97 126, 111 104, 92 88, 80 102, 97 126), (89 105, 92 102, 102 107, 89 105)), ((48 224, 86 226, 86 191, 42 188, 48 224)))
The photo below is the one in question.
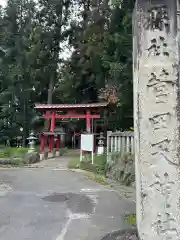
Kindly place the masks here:
POLYGON ((99 240, 126 228, 134 203, 80 173, 0 170, 0 239, 99 240))

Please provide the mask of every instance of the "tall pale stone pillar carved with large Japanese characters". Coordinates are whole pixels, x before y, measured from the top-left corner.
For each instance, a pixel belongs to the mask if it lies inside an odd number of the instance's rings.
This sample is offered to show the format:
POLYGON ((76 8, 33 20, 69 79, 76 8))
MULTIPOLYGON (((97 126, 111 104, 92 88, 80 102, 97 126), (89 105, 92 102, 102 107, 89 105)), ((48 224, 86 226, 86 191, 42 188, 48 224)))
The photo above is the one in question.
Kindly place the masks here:
POLYGON ((176 0, 137 0, 133 17, 137 227, 180 239, 180 99, 176 0))

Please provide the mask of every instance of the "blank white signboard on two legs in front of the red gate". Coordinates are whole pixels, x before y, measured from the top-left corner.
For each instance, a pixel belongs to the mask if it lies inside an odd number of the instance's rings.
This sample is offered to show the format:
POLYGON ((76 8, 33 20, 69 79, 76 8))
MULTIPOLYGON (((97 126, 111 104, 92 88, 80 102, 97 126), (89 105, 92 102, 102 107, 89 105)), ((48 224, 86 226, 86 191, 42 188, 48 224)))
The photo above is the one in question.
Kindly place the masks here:
POLYGON ((81 150, 80 150, 80 162, 83 159, 83 151, 91 152, 92 164, 94 164, 94 135, 93 134, 81 134, 81 150))

